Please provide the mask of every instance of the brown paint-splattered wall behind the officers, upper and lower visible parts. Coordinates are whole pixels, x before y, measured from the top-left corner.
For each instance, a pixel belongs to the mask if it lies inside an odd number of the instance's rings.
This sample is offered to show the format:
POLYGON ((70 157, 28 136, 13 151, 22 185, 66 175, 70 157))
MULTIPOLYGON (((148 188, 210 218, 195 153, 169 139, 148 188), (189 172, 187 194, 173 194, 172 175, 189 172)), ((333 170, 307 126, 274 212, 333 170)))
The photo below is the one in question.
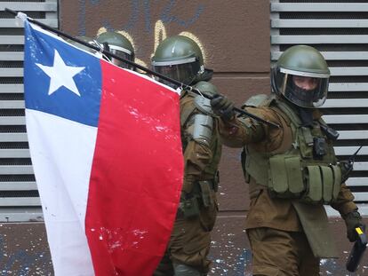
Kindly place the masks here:
MULTIPOLYGON (((89 36, 102 28, 122 31, 132 39, 139 62, 148 66, 164 37, 189 35, 201 45, 206 67, 214 69, 213 83, 237 106, 252 94, 269 92, 268 0, 62 0, 60 28, 89 36)), ((251 275, 244 231, 249 201, 239 160, 240 150, 224 148, 212 275, 251 275)), ((341 254, 339 261, 322 262, 322 275, 348 275, 344 266, 351 244, 345 226, 337 218, 331 225, 341 254)), ((0 233, 0 275, 52 275, 44 224, 4 224, 0 233)), ((362 265, 356 275, 367 269, 362 265)))

